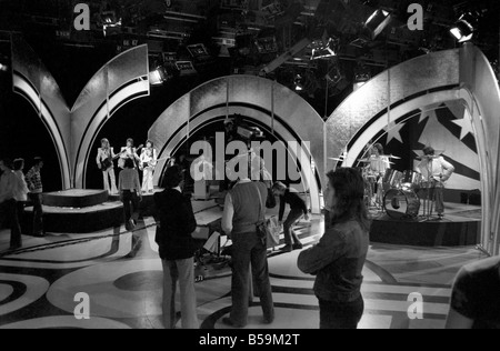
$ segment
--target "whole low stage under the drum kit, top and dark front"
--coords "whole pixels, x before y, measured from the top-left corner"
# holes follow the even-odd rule
[[[387,213],[373,218],[370,240],[414,247],[466,247],[480,242],[481,207],[446,203],[446,217],[393,219]],[[420,210],[422,214],[422,209]]]

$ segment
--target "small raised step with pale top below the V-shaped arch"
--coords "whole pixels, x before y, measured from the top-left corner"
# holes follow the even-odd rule
[[[54,208],[88,208],[108,201],[106,190],[71,189],[43,194],[43,204]]]

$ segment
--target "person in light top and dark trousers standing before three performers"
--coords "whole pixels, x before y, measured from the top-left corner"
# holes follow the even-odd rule
[[[142,194],[139,173],[134,169],[132,159],[126,160],[124,169],[120,172],[118,188],[120,190],[121,201],[123,202],[126,228],[127,230],[133,230],[139,217],[139,202],[142,201]]]

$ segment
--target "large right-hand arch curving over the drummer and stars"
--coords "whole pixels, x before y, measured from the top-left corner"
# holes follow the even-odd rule
[[[434,103],[460,100],[472,117],[482,174],[482,247],[499,253],[500,237],[500,90],[484,54],[474,46],[434,52],[403,62],[351,94],[326,124],[327,158],[348,151],[346,166],[388,126]],[[393,128],[393,127],[392,127]]]

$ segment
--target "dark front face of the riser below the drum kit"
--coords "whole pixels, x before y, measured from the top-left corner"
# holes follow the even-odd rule
[[[370,231],[372,242],[414,247],[467,247],[480,242],[480,221],[413,222],[374,220]]]

